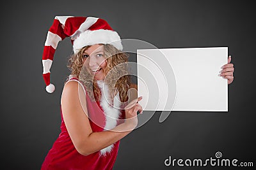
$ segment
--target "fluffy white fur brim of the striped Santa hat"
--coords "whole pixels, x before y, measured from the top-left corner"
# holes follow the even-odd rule
[[[98,29],[82,32],[73,42],[73,51],[77,53],[84,46],[95,44],[110,44],[115,46],[118,50],[123,50],[121,39],[117,32],[107,29]]]

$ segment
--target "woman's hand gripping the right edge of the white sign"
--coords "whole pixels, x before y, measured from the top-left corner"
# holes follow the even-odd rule
[[[231,62],[231,56],[228,56],[228,64],[225,64],[221,67],[221,71],[219,76],[222,76],[223,78],[227,78],[228,85],[233,82],[234,80],[234,64]]]

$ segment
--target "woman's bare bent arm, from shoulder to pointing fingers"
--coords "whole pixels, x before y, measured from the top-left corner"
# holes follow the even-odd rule
[[[142,111],[140,106],[134,106],[134,110],[132,110],[134,113],[129,113],[130,115],[126,113],[126,117],[133,117],[134,121],[131,121],[132,119],[125,120],[123,124],[116,126],[112,131],[92,132],[86,115],[88,113],[86,96],[83,87],[77,81],[69,81],[65,85],[61,96],[61,109],[68,134],[77,152],[82,155],[97,152],[124,138],[136,127],[137,111]]]

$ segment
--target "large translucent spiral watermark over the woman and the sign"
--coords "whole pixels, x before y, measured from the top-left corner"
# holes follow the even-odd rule
[[[116,42],[115,42],[116,43]],[[135,129],[141,127],[142,125],[146,124],[150,118],[153,117],[154,113],[158,111],[158,106],[161,104],[165,108],[165,106],[168,105],[168,108],[173,108],[173,105],[175,103],[176,98],[176,80],[175,80],[175,74],[173,72],[172,66],[167,59],[167,57],[164,55],[163,52],[158,50],[158,48],[146,41],[142,41],[139,39],[122,39],[122,45],[124,46],[124,49],[122,52],[109,49],[104,51],[104,57],[109,62],[107,66],[109,66],[109,70],[106,71],[106,74],[104,75],[104,80],[102,84],[102,92],[101,96],[102,98],[100,101],[106,101],[104,102],[103,108],[106,108],[106,110],[109,110],[109,114],[106,115],[106,120],[109,120],[109,122],[113,123],[113,126],[111,127],[105,127],[104,124],[101,124],[99,120],[97,120],[98,117],[90,117],[88,114],[88,117],[92,122],[97,124],[99,127],[104,128],[108,131],[115,131],[113,130],[113,127],[115,127],[116,122],[124,122],[126,119],[118,118],[115,114],[116,110],[125,110],[127,107],[123,106],[129,106],[131,108],[136,104],[136,102],[132,103],[132,99],[134,96],[134,99],[137,99],[137,95],[139,93],[136,89],[133,87],[129,87],[129,90],[127,90],[127,96],[129,98],[128,101],[122,102],[119,97],[111,96],[113,94],[116,95],[116,93],[109,94],[109,89],[111,89],[111,92],[113,92],[113,89],[117,90],[117,87],[119,85],[119,88],[121,87],[120,82],[118,80],[124,80],[125,76],[131,76],[135,79],[135,83],[140,86],[141,91],[143,90],[143,99],[140,101],[141,106],[143,107],[143,110],[146,106],[150,106],[150,109],[147,110],[147,114],[139,114],[137,116],[138,118],[138,125]],[[99,48],[95,49],[91,54],[90,57],[94,61],[97,57],[99,52],[101,51]],[[140,49],[154,49],[157,50],[156,59],[152,60],[150,57],[148,57],[147,53],[141,52]],[[140,62],[117,62],[115,59],[122,59],[121,53],[128,53],[129,56],[137,57]],[[134,56],[135,55],[135,56]],[[93,87],[95,87],[95,74],[97,73],[97,70],[100,70],[100,65],[96,68],[95,65],[93,67],[94,73],[91,74],[90,72],[90,60],[91,58],[88,55],[88,59],[84,60],[83,67],[81,67],[81,71],[79,74],[79,80],[83,82],[84,86],[86,87],[86,92],[89,96],[92,96],[92,101],[95,101],[94,98],[94,92]],[[92,64],[91,64],[92,65]],[[146,77],[141,77],[138,74],[138,71],[140,73],[143,73],[144,75],[147,75]],[[161,80],[161,81],[159,81]],[[124,81],[122,81],[124,82]],[[150,84],[150,86],[148,86]],[[169,88],[170,86],[172,88]],[[121,89],[121,88],[120,88]],[[123,88],[124,89],[124,88]],[[79,94],[79,97],[83,97],[83,90],[80,90],[82,94]],[[119,91],[118,91],[119,93]],[[129,94],[136,94],[136,95],[129,95]],[[93,94],[93,95],[90,95]],[[160,94],[163,94],[164,96],[160,96]],[[113,99],[114,98],[114,99]],[[83,103],[83,98],[80,99],[81,103]],[[115,102],[116,101],[116,102]],[[129,104],[128,102],[131,101],[132,104]],[[150,102],[149,102],[150,101]],[[148,104],[150,103],[150,104]],[[83,107],[83,106],[82,106]],[[87,114],[87,107],[83,107],[84,112]],[[105,109],[104,109],[105,110]],[[172,109],[170,111],[161,111],[161,115],[159,117],[159,122],[164,122],[166,118],[170,115]],[[133,128],[132,128],[133,129]],[[129,130],[132,130],[129,129]],[[118,129],[118,132],[122,130]],[[125,130],[126,131],[126,130]]]

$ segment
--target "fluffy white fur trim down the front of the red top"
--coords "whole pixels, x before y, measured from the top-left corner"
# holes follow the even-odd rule
[[[100,106],[104,110],[106,124],[104,127],[104,131],[113,129],[116,127],[117,119],[120,117],[120,97],[119,93],[116,94],[113,102],[113,106],[111,106],[111,99],[109,97],[109,89],[108,85],[106,85],[102,80],[97,81],[100,91],[101,91],[101,99],[100,99]],[[106,155],[106,153],[111,152],[113,149],[113,144],[109,145],[108,147],[100,150],[100,155]]]

